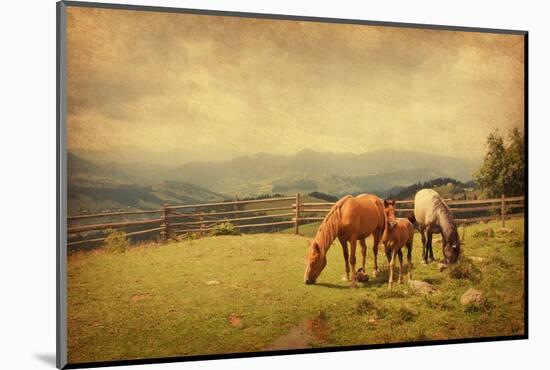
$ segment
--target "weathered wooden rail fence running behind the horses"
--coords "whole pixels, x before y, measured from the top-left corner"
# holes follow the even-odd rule
[[[505,220],[524,216],[524,197],[479,200],[447,200],[459,224]],[[397,201],[398,215],[413,211],[413,200]],[[239,230],[275,231],[323,220],[334,205],[331,202],[302,202],[300,194],[294,197],[276,197],[258,200],[235,200],[173,206],[165,204],[159,210],[96,213],[67,218],[68,247],[100,243],[108,229],[125,229],[129,237],[149,236],[161,243],[178,239],[190,233],[210,233],[221,223],[229,222]],[[485,213],[479,215],[479,213]],[[98,220],[103,220],[99,221]]]

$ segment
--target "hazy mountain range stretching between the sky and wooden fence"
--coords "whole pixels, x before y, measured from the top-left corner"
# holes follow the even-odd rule
[[[69,153],[69,211],[158,208],[162,203],[266,193],[380,194],[438,177],[468,181],[478,166],[470,159],[390,149],[361,154],[309,149],[290,156],[257,153],[165,168]]]

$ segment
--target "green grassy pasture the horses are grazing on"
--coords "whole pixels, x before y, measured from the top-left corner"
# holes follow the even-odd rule
[[[494,233],[480,233],[491,227]],[[350,289],[341,280],[335,243],[316,285],[305,285],[306,236],[209,237],[69,256],[69,362],[276,350],[298,347],[471,338],[524,333],[523,220],[466,228],[464,257],[439,272],[420,263],[415,236],[413,278],[424,294],[380,277]],[[462,228],[460,228],[462,236]],[[441,247],[434,244],[436,258]],[[367,271],[372,270],[372,241]],[[406,267],[405,267],[406,270]],[[470,287],[479,307],[463,306]]]

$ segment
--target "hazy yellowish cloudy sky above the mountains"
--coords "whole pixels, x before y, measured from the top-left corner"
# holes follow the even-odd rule
[[[523,68],[522,36],[69,7],[69,150],[477,157]]]

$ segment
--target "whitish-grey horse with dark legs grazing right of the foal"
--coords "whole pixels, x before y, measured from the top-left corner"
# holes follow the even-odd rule
[[[432,234],[441,234],[445,263],[455,263],[460,255],[458,230],[451,210],[432,189],[422,189],[414,197],[414,218],[422,236],[422,260],[433,261]],[[426,235],[428,240],[426,241]]]

